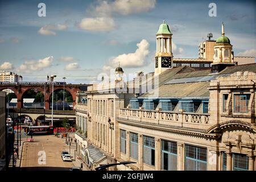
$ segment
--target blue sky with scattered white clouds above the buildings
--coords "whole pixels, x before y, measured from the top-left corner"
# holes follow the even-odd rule
[[[216,4],[216,16],[209,16]],[[39,3],[46,16],[39,16]],[[178,58],[198,57],[198,45],[221,36],[225,24],[235,56],[256,56],[254,1],[0,1],[0,70],[23,81],[90,84],[118,66],[154,72],[156,32],[165,20]],[[40,11],[42,12],[42,11]],[[113,73],[113,72],[112,72]]]

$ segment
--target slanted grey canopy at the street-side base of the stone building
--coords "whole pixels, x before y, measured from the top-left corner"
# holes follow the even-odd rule
[[[97,147],[90,145],[85,148],[85,152],[88,154],[88,158],[93,164],[106,164],[106,155],[101,152]]]

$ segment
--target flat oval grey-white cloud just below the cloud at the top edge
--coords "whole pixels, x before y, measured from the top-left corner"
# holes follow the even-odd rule
[[[110,17],[84,18],[78,26],[88,31],[110,31],[114,30],[115,22]]]

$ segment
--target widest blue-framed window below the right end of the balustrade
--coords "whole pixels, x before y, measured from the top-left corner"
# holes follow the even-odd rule
[[[207,171],[207,148],[185,145],[185,170]]]

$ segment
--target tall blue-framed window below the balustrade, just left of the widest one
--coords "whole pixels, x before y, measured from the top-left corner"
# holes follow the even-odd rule
[[[162,140],[162,169],[177,170],[177,143]]]

